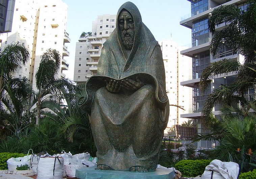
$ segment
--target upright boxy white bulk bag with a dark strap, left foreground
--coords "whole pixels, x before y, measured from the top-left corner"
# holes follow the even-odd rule
[[[39,157],[36,179],[62,179],[64,174],[63,157]]]

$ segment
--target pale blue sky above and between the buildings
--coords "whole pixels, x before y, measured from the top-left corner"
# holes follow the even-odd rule
[[[82,32],[91,32],[92,23],[98,15],[117,14],[127,0],[62,0],[68,5],[67,32],[71,39],[65,45],[70,52],[65,57],[69,70],[63,71],[66,78],[73,80],[76,42]],[[130,0],[139,9],[142,22],[149,28],[157,41],[172,39],[178,46],[191,43],[191,29],[180,25],[181,17],[191,11],[188,0]]]

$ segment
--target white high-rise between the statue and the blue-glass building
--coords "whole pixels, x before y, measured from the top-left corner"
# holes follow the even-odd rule
[[[181,118],[180,115],[192,106],[192,88],[180,85],[180,82],[189,79],[192,72],[192,60],[190,57],[180,54],[180,51],[186,47],[178,47],[177,43],[172,40],[164,40],[159,42],[161,46],[164,68],[166,91],[169,98],[170,114],[167,128],[164,133],[174,125],[181,125],[186,118]]]

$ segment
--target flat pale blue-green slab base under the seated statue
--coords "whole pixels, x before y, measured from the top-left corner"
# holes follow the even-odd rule
[[[76,170],[76,177],[79,179],[173,179],[175,176],[174,170],[165,168],[156,168],[154,172],[126,172],[113,170],[95,170],[94,167],[88,167]]]

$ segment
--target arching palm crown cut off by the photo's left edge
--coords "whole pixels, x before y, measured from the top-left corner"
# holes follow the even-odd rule
[[[0,113],[3,89],[11,74],[29,59],[28,50],[19,43],[9,44],[0,52]]]

